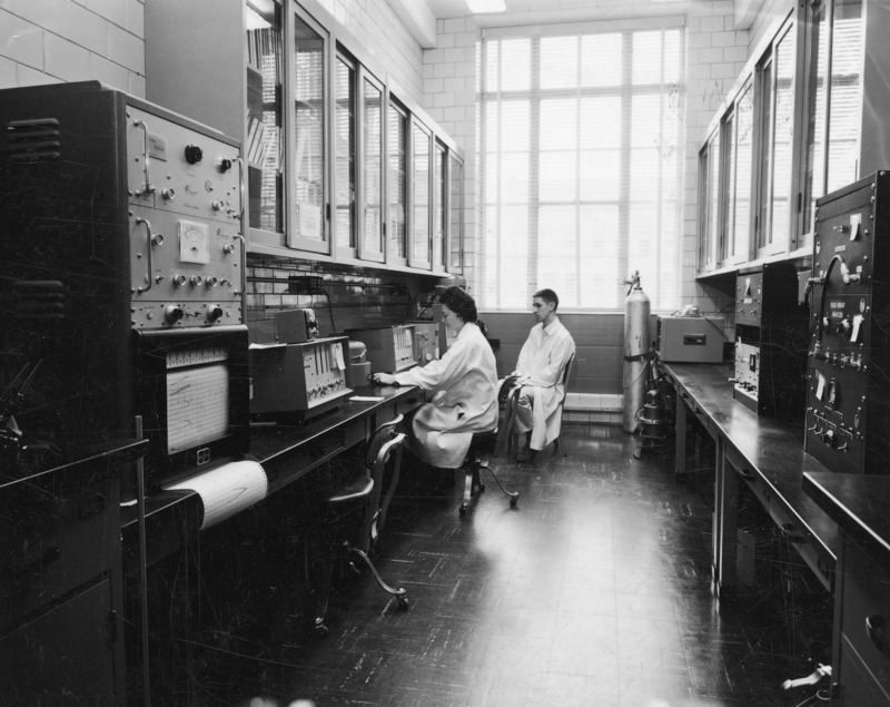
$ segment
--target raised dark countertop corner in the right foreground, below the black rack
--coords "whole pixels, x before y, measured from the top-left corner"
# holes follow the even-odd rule
[[[809,472],[803,490],[840,529],[890,572],[890,477]]]

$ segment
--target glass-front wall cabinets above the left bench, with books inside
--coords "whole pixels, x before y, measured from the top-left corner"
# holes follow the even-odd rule
[[[459,269],[463,156],[329,4],[145,3],[146,99],[240,139],[249,252]]]

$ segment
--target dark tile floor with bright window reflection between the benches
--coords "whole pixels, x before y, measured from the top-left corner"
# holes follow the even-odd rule
[[[266,581],[237,592],[255,610],[249,618],[236,611],[234,623],[225,601],[204,599],[212,611],[178,639],[190,680],[174,701],[817,704],[815,688],[783,691],[781,684],[830,662],[830,596],[756,501],[743,497],[740,515],[756,532],[756,580],[718,602],[708,464],[676,479],[670,450],[635,460],[637,440],[621,428],[566,425],[564,439],[566,460],[547,450],[533,465],[493,462],[521,492],[516,509],[490,482],[462,518],[459,488],[434,494],[405,483],[376,559],[384,577],[408,590],[409,608],[399,610],[368,575],[348,579],[326,639],[308,629],[312,598],[295,610],[299,601],[276,578],[285,556],[249,570],[258,553],[227,552],[226,571],[239,581],[251,573]],[[200,592],[211,597],[208,585],[224,582],[225,571],[212,579],[212,560],[205,564]]]

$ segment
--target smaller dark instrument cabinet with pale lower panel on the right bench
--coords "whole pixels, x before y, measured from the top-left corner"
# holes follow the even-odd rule
[[[789,262],[739,272],[732,379],[732,396],[743,405],[798,424],[805,401],[809,316],[799,297],[800,278]]]

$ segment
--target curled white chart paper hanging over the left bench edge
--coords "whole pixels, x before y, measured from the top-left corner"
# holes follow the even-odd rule
[[[204,503],[201,530],[235,515],[266,498],[269,482],[257,462],[222,464],[210,471],[164,487],[167,491],[190,489]]]

